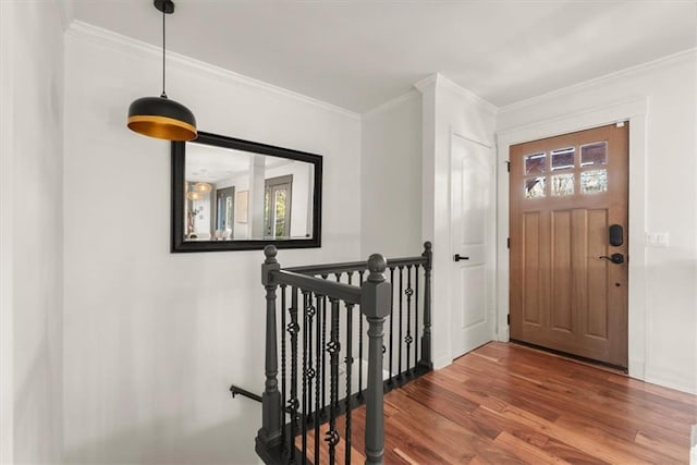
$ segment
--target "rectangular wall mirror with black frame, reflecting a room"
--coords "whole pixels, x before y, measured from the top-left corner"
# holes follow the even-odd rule
[[[321,245],[322,157],[198,132],[172,143],[172,252]]]

